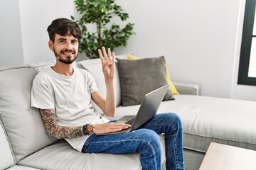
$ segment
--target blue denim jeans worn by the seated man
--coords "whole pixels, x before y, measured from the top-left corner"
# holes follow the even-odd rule
[[[82,148],[84,153],[124,154],[139,152],[143,169],[161,169],[161,142],[165,134],[166,169],[185,169],[181,119],[174,113],[155,115],[139,130],[117,135],[92,134]]]

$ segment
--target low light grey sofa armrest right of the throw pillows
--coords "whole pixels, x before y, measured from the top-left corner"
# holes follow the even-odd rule
[[[196,83],[173,81],[174,86],[180,94],[199,95],[200,85]]]

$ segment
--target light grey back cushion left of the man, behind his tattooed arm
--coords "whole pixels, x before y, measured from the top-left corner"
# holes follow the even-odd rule
[[[0,113],[16,161],[52,144],[38,109],[31,108],[36,71],[25,64],[0,68]]]

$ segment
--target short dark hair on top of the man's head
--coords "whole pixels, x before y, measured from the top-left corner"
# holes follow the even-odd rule
[[[67,18],[58,18],[53,20],[53,22],[47,28],[48,35],[50,40],[54,42],[55,34],[59,34],[61,36],[65,35],[73,35],[74,38],[82,38],[82,33],[78,23],[71,21]]]

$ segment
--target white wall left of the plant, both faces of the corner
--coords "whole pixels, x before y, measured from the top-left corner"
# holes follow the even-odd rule
[[[1,0],[0,65],[55,60],[48,48],[50,22],[74,15],[70,0]],[[4,38],[2,38],[4,36]]]

